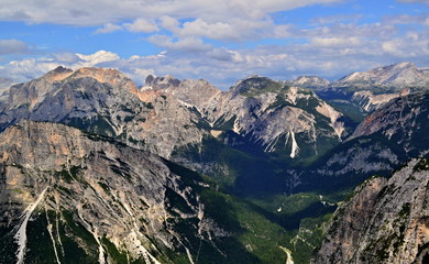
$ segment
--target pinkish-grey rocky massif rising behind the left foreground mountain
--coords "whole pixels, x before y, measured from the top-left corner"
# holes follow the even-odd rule
[[[156,95],[142,101],[134,82],[114,69],[57,68],[13,86],[0,110],[0,131],[21,119],[59,122],[164,157],[208,134],[195,125],[201,122],[200,117],[178,99]]]

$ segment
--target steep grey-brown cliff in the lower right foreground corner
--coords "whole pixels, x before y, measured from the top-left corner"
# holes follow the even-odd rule
[[[429,161],[366,180],[336,212],[314,263],[427,263]]]

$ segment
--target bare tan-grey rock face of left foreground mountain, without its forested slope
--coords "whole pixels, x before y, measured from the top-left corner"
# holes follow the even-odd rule
[[[63,124],[23,121],[1,133],[0,175],[2,263],[14,262],[15,252],[34,261],[32,252],[41,254],[34,246],[50,240],[56,251],[46,257],[70,257],[66,263],[74,253],[86,263],[117,263],[118,251],[160,263],[168,252],[186,256],[188,241],[199,235],[229,235],[205,218],[199,176],[178,175],[154,154]],[[187,233],[178,231],[185,223]]]

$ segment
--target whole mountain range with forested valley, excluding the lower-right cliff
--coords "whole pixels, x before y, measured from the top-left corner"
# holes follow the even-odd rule
[[[362,235],[336,227],[366,196],[354,191],[330,219],[365,179],[403,180],[414,170],[392,173],[428,156],[428,73],[398,63],[332,82],[254,75],[222,91],[58,67],[8,82],[1,262],[309,263],[319,246],[318,263],[359,261],[358,245],[328,240]],[[396,260],[386,252],[381,261]]]

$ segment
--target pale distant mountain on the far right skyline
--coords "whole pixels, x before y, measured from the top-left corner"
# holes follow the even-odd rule
[[[399,96],[429,89],[429,70],[411,63],[397,63],[369,72],[356,72],[317,94],[353,116],[371,112]]]

